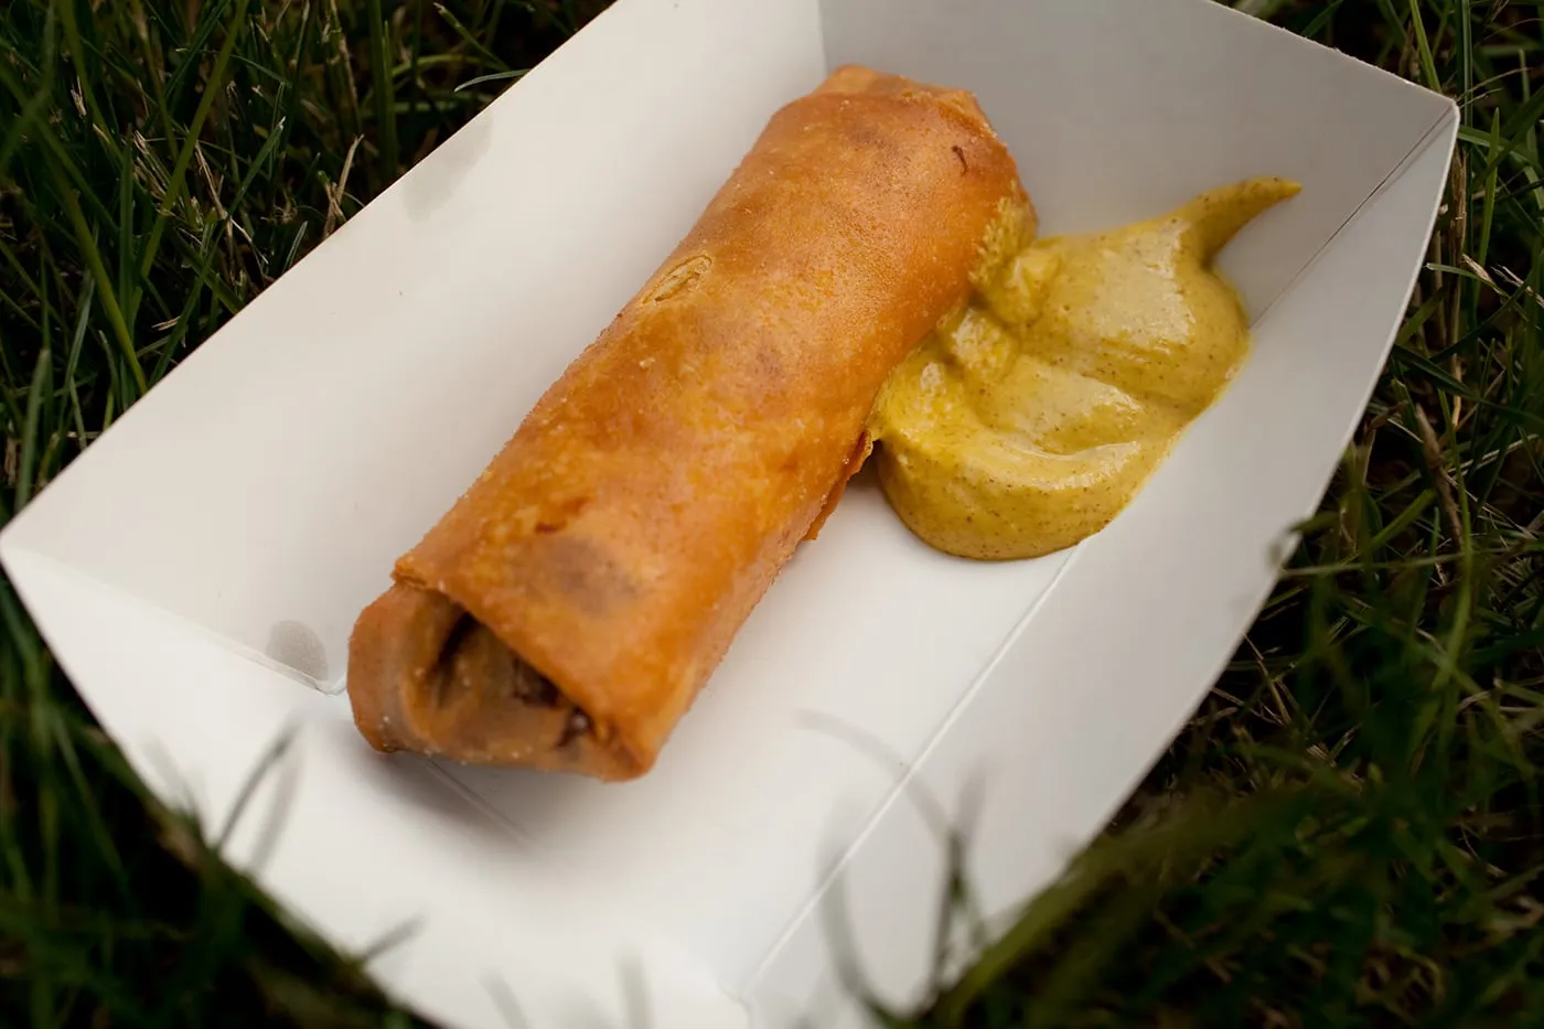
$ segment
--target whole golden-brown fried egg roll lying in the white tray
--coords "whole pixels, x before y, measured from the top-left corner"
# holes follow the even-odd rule
[[[780,110],[360,615],[360,732],[645,773],[863,464],[885,379],[965,301],[1010,216],[1033,230],[968,93],[849,66]]]

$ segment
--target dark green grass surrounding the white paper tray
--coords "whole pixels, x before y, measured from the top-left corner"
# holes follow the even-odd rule
[[[0,518],[599,6],[0,6]],[[1538,3],[1238,6],[1461,99],[1428,269],[1197,718],[891,1026],[1544,1024]],[[6,584],[0,616],[0,1024],[414,1024],[145,794]]]

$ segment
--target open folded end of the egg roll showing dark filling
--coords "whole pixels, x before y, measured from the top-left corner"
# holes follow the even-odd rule
[[[378,751],[635,779],[647,765],[443,593],[397,582],[354,629],[354,722]],[[610,735],[610,734],[604,734]]]

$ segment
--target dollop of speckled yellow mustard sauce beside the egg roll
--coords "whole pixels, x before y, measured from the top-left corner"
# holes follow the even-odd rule
[[[869,419],[906,525],[979,559],[1104,528],[1249,351],[1212,260],[1297,192],[1249,179],[1163,218],[1044,241],[1005,212],[970,304],[891,374]]]

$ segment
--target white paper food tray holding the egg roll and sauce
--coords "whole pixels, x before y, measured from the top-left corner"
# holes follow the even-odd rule
[[[641,782],[367,751],[337,691],[394,558],[843,62],[974,90],[1047,235],[1300,181],[1223,263],[1254,318],[1235,385],[1070,553],[942,556],[860,482]],[[1366,402],[1456,125],[1207,0],[622,0],[193,354],[0,555],[134,766],[205,824],[295,732],[229,856],[343,947],[412,924],[372,967],[426,1015],[502,1026],[508,993],[533,1026],[622,1026],[635,981],[670,1029],[846,1024],[834,868],[874,983],[909,997],[929,967],[919,790],[980,785],[970,871],[1010,912],[1206,694]]]

